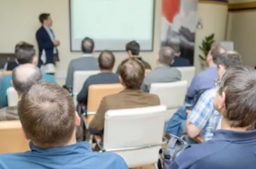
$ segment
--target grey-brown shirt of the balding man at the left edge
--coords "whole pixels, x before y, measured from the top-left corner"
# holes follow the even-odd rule
[[[15,121],[19,120],[17,106],[5,107],[0,110],[0,121]]]

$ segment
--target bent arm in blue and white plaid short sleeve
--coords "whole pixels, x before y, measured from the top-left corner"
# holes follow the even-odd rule
[[[195,104],[194,109],[189,114],[186,121],[186,129],[190,138],[198,136],[201,130],[206,126],[207,121],[212,115],[213,99],[211,95],[207,94],[207,92],[203,93]]]

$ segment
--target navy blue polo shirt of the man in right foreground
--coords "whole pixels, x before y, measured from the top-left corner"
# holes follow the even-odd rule
[[[217,130],[205,144],[193,144],[169,169],[255,169],[256,130]]]

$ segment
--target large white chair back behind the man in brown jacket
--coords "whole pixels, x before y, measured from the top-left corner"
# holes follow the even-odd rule
[[[134,148],[162,143],[166,106],[108,110],[105,115],[104,149]],[[113,151],[129,168],[154,164],[161,145],[145,149]]]

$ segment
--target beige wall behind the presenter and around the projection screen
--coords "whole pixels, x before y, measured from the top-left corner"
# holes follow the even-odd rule
[[[143,59],[147,60],[153,68],[156,66],[155,56],[160,49],[161,21],[161,1],[155,0],[155,2],[154,51],[142,54]],[[57,65],[56,76],[62,77],[58,79],[58,82],[63,84],[70,60],[80,56],[79,53],[70,52],[68,8],[68,0],[0,0],[0,53],[12,53],[15,43],[19,41],[32,42],[36,45],[35,32],[40,26],[38,14],[50,13],[54,20],[55,37],[61,41],[59,47],[61,62]],[[198,4],[198,15],[204,27],[196,32],[195,67],[197,72],[201,70],[198,46],[201,44],[202,38],[214,32],[217,42],[224,40],[226,10],[227,7],[224,5]],[[115,53],[115,56],[114,70],[121,60],[127,57],[127,54]]]

